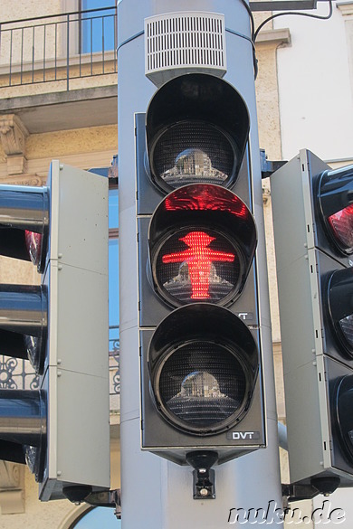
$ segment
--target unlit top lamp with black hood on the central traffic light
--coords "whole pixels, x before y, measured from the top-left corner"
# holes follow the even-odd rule
[[[230,84],[193,73],[157,90],[149,103],[146,128],[150,176],[168,193],[196,182],[234,184],[250,118],[243,98]]]

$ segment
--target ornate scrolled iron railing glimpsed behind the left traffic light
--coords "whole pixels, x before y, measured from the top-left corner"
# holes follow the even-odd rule
[[[1,345],[0,345],[1,346]],[[110,395],[120,393],[119,326],[110,326]],[[0,389],[34,390],[39,377],[28,361],[0,354]]]

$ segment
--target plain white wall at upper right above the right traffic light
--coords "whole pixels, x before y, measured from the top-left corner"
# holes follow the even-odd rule
[[[328,14],[329,4],[316,11]],[[284,159],[309,148],[324,160],[353,157],[353,87],[345,18],[333,3],[329,20],[281,16],[275,28],[289,27],[291,46],[278,49],[281,141]]]

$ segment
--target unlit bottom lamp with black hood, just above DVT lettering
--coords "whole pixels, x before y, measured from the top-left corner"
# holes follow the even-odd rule
[[[148,350],[157,411],[179,430],[213,435],[243,419],[259,370],[253,335],[223,307],[181,307],[157,327]]]

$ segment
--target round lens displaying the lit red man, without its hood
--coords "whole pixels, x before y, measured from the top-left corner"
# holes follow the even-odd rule
[[[161,294],[178,303],[223,301],[239,286],[239,251],[214,230],[174,233],[157,252],[154,269]]]

